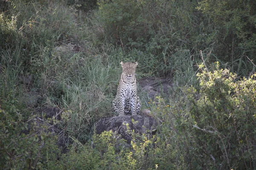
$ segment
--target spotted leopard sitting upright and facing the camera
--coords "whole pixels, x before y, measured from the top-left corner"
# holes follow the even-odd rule
[[[119,116],[135,116],[140,112],[140,98],[137,96],[137,82],[135,77],[138,62],[122,62],[122,74],[115,99],[113,99],[113,112]]]

